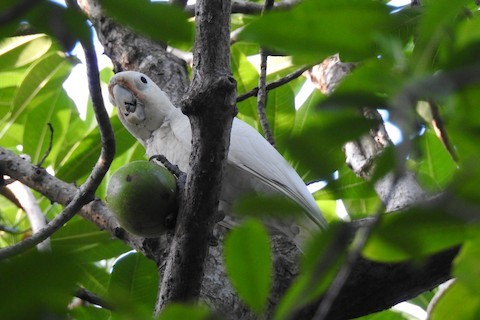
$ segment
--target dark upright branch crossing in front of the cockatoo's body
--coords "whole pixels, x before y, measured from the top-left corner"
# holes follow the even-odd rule
[[[197,300],[217,213],[235,81],[230,71],[230,1],[197,1],[193,78],[182,111],[192,127],[192,154],[156,312],[172,301]]]

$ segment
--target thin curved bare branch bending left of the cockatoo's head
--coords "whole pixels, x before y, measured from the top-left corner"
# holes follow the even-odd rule
[[[95,190],[102,182],[105,173],[108,171],[108,168],[113,161],[113,156],[115,155],[115,138],[108,113],[103,103],[97,55],[91,38],[87,37],[87,39],[88,40],[85,42],[82,42],[82,46],[85,52],[87,65],[88,88],[92,98],[93,110],[95,112],[95,117],[100,130],[100,138],[102,141],[102,151],[100,157],[86,182],[79,188],[72,201],[64,208],[64,210],[38,233],[33,234],[30,238],[18,242],[10,247],[1,249],[0,260],[14,256],[34,247],[50,237],[67,221],[73,218],[73,216],[75,216],[75,214],[86,203],[94,199]]]

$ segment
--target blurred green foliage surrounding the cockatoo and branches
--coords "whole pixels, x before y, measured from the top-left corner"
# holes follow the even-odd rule
[[[431,319],[479,317],[480,72],[474,71],[480,70],[480,13],[474,1],[466,0],[425,0],[422,7],[415,8],[392,8],[385,2],[304,0],[292,10],[232,17],[232,30],[241,30],[231,52],[239,95],[257,86],[260,46],[290,56],[269,60],[268,82],[335,53],[343,61],[358,62],[328,97],[315,91],[296,104],[306,83],[304,77],[269,92],[267,115],[279,151],[306,181],[325,183],[314,195],[332,222],[305,247],[302,273],[278,306],[277,319],[288,318],[320,296],[343,263],[348,245],[342,242],[345,224],[335,222],[340,220],[335,215],[340,207],[337,201],[342,201],[348,219],[382,210],[375,180],[356,177],[345,165],[342,152],[345,142],[376,125],[361,116],[359,107],[387,110],[389,120],[401,130],[401,142],[379,159],[377,176],[406,168],[416,173],[425,190],[445,196],[429,207],[382,216],[364,256],[421,263],[430,254],[460,246],[453,266],[457,280],[439,291],[436,303],[430,305]],[[149,1],[102,3],[118,22],[152,39],[183,50],[192,47],[192,23],[177,8]],[[0,9],[15,4],[17,1],[3,1]],[[51,1],[0,26],[0,145],[28,154],[32,163],[38,163],[50,143],[51,124],[52,150],[43,166],[69,183],[82,183],[100,152],[91,107],[80,117],[77,108],[85,106],[77,106],[62,87],[79,62],[71,54],[73,46],[90,36],[85,17]],[[102,71],[103,81],[110,76],[111,70]],[[458,161],[439,139],[428,101],[439,106]],[[261,130],[254,98],[240,102],[238,110],[239,118]],[[111,122],[117,139],[110,170],[114,172],[127,162],[144,158],[144,150],[123,128],[115,110]],[[105,182],[97,196],[103,198],[104,193]],[[59,205],[34,194],[47,218],[60,212]],[[241,204],[242,211],[250,216],[259,208],[281,207],[287,214],[295,211],[278,199],[269,201],[247,199]],[[0,225],[15,231],[0,231],[0,247],[21,241],[31,232],[23,211],[4,197],[0,197]],[[151,318],[158,289],[152,261],[138,253],[125,254],[130,248],[78,217],[51,241],[49,254],[31,252],[0,262],[2,315],[15,319]],[[267,234],[256,220],[247,220],[227,239],[227,272],[245,304],[258,314],[267,306],[270,254]],[[115,312],[92,305],[68,309],[76,287],[96,293],[115,306]],[[432,296],[427,292],[411,303],[426,310]],[[207,307],[187,305],[171,305],[160,316],[211,317]],[[412,317],[390,310],[363,319]]]

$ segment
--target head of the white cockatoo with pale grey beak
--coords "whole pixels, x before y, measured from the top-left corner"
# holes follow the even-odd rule
[[[110,102],[130,133],[145,142],[175,107],[167,95],[143,73],[123,71],[108,84]]]

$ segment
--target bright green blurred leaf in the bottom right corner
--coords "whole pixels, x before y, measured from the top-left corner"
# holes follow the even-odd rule
[[[430,320],[478,319],[480,296],[462,281],[455,281],[433,305]]]

